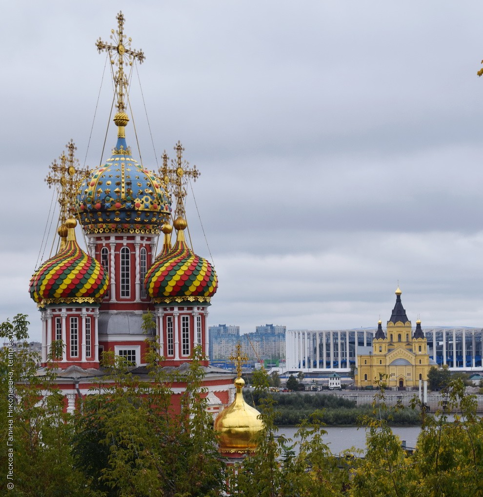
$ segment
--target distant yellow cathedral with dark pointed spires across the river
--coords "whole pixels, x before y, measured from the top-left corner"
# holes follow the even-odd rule
[[[429,362],[427,340],[416,321],[412,334],[411,322],[401,303],[401,290],[396,289],[396,304],[387,322],[386,335],[381,320],[369,354],[358,355],[355,381],[358,387],[374,386],[382,380],[387,387],[406,389],[417,387],[419,380],[428,379]]]

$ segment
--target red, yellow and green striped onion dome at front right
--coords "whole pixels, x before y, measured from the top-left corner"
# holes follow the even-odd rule
[[[182,222],[181,222],[182,221]],[[209,302],[218,288],[211,264],[193,253],[185,241],[186,221],[177,219],[178,237],[169,254],[155,260],[144,279],[148,296],[154,303]]]

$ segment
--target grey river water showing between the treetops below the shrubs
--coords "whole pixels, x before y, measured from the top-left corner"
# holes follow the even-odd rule
[[[294,439],[298,428],[291,426],[281,426],[278,435]],[[354,446],[356,449],[365,449],[366,430],[357,426],[324,426],[327,435],[323,437],[324,442],[329,446],[332,454],[338,454],[345,449]],[[405,440],[406,447],[415,447],[416,439],[421,431],[420,426],[394,426],[392,432],[398,435],[401,440]]]

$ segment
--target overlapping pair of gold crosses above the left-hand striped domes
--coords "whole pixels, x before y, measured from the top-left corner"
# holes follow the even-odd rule
[[[82,181],[90,175],[88,168],[82,169],[79,160],[74,157],[74,151],[77,150],[74,142],[71,140],[67,145],[67,157],[64,152],[59,157],[60,164],[54,161],[48,176],[45,178],[49,188],[55,184],[58,191],[58,201],[60,204],[60,223],[65,224],[67,217],[75,217],[76,198]]]

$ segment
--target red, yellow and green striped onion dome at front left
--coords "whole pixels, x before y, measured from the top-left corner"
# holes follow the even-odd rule
[[[30,297],[40,308],[49,304],[100,303],[107,291],[109,276],[96,259],[77,244],[75,219],[68,219],[67,241],[61,250],[44,262],[30,280]]]

